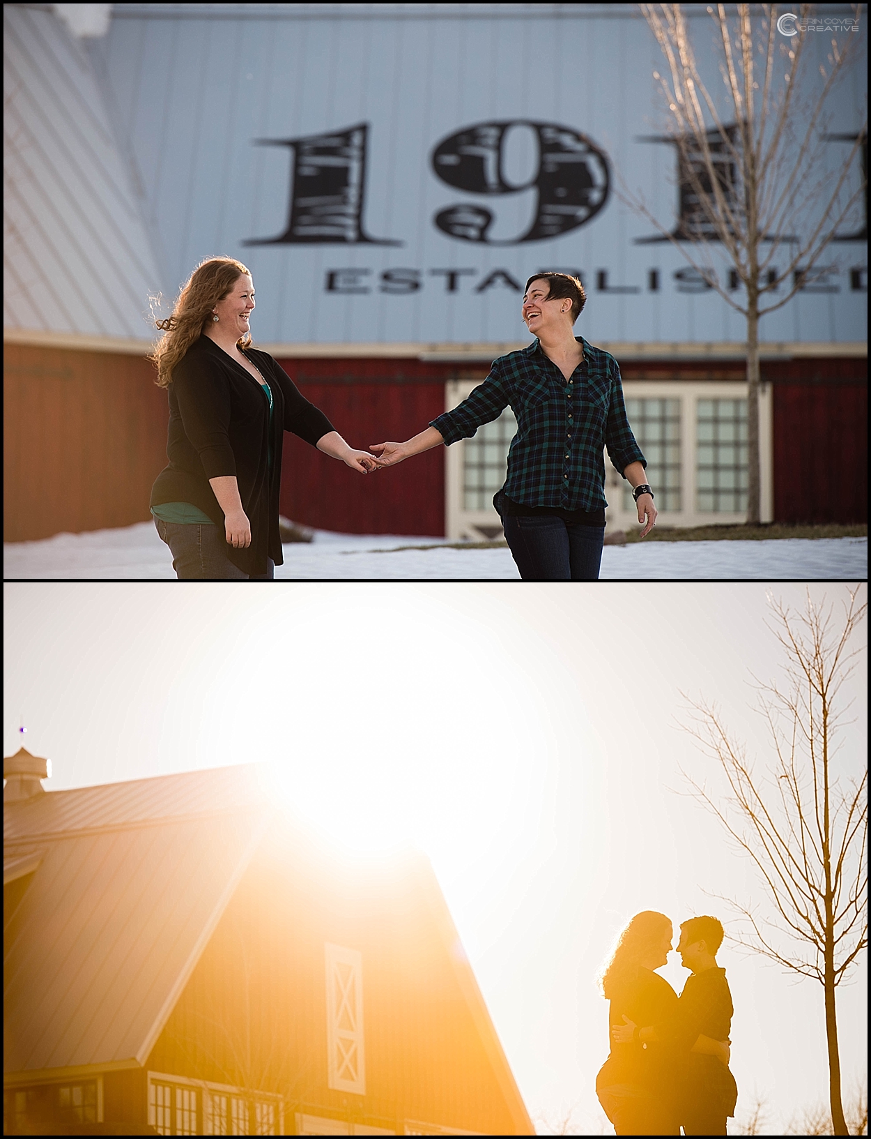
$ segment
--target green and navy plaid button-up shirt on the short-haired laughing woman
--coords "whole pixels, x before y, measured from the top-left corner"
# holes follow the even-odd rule
[[[582,337],[584,359],[566,379],[539,341],[493,361],[468,399],[430,421],[449,445],[470,439],[506,407],[517,417],[504,492],[524,506],[598,510],[605,500],[603,448],[623,474],[643,462],[626,418],[617,361]],[[625,477],[625,476],[624,476]]]

